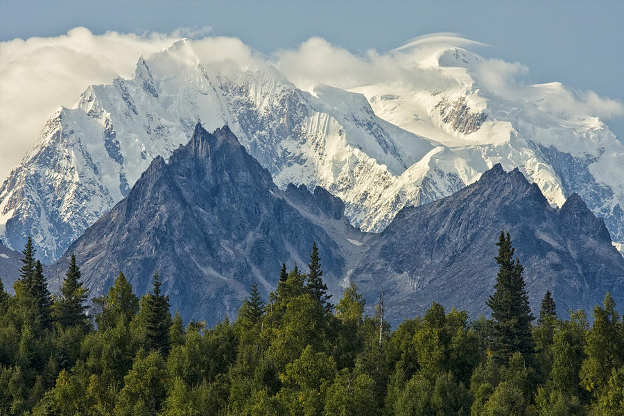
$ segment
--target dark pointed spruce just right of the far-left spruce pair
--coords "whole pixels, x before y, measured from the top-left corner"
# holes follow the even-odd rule
[[[88,291],[80,283],[80,268],[73,254],[65,276],[61,288],[62,297],[54,304],[56,319],[63,328],[84,327],[87,325],[87,306],[84,303]]]

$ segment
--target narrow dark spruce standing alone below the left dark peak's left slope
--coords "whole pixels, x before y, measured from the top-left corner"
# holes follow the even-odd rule
[[[169,297],[160,294],[160,285],[160,277],[155,273],[153,293],[149,293],[146,298],[146,346],[166,356],[171,345],[169,340],[171,313],[169,313]]]

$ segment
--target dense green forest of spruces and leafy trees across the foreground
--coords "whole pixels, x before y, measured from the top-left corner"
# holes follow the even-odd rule
[[[119,272],[87,307],[74,257],[51,295],[28,241],[15,295],[0,281],[0,415],[624,415],[612,297],[564,320],[548,292],[536,320],[497,245],[492,319],[434,303],[392,331],[383,291],[374,316],[353,284],[330,301],[316,245],[207,328],[171,315],[158,275],[139,299]]]

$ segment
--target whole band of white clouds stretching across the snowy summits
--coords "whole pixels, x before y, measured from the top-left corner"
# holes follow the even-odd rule
[[[94,35],[74,28],[58,37],[33,37],[0,42],[0,178],[19,164],[40,138],[49,116],[61,105],[71,107],[88,85],[128,78],[139,55],[148,56],[180,37],[193,38],[202,63],[227,60],[243,66],[270,64],[297,87],[311,90],[327,84],[352,89],[377,83],[443,89],[458,83],[439,69],[422,64],[441,45],[470,49],[483,46],[453,33],[417,37],[385,53],[374,49],[356,55],[311,37],[297,49],[261,55],[234,37],[211,36],[210,28],[182,28],[174,33],[144,35],[108,32]],[[470,70],[479,85],[503,98],[544,100],[548,111],[601,119],[621,117],[624,105],[594,92],[576,91],[558,83],[528,85],[528,68],[518,63],[486,59]]]

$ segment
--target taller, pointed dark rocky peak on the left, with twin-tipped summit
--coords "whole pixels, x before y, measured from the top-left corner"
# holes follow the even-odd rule
[[[198,125],[187,146],[168,162],[154,159],[128,197],[89,227],[49,273],[62,275],[76,253],[85,284],[98,295],[119,270],[137,293],[146,293],[157,271],[174,310],[214,323],[235,315],[254,281],[265,293],[274,288],[281,261],[305,270],[313,241],[327,279],[338,281],[348,252],[334,239],[358,233],[343,209],[327,191],[280,191],[228,128],[211,135]],[[332,223],[333,236],[316,223]]]

